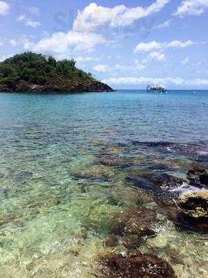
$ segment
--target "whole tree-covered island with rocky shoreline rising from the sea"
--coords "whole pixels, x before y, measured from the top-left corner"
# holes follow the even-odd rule
[[[0,63],[0,92],[113,92],[74,59],[56,60],[33,52],[17,54]]]

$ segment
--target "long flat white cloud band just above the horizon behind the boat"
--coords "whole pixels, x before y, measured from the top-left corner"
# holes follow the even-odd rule
[[[110,85],[146,85],[146,84],[172,84],[178,86],[202,86],[208,85],[208,79],[182,79],[182,78],[150,78],[150,77],[119,77],[103,79],[104,83]]]

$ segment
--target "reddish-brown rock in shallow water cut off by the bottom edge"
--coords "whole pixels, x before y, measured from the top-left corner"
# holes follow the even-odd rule
[[[176,278],[171,265],[151,254],[101,257],[100,273],[103,278]]]

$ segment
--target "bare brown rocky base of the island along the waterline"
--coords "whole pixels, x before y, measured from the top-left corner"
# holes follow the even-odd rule
[[[112,88],[99,81],[92,83],[74,83],[67,81],[60,85],[47,83],[45,85],[30,84],[26,81],[20,81],[15,88],[10,88],[8,85],[0,85],[0,92],[113,92]]]

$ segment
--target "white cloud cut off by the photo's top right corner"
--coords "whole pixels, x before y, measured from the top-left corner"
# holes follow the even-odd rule
[[[208,8],[207,0],[183,0],[174,15],[201,15]]]

